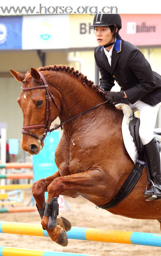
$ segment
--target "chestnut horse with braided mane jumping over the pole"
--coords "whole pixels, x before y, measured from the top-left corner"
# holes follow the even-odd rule
[[[74,68],[55,65],[38,70],[31,68],[26,74],[14,70],[11,73],[16,80],[23,82],[17,102],[24,115],[22,148],[30,154],[38,154],[44,145],[46,127],[50,124],[46,119],[50,118],[52,122],[59,116],[65,122],[105,101],[105,94],[98,86]],[[48,96],[42,75],[55,102],[46,100]],[[50,115],[46,114],[49,111]],[[50,238],[62,246],[68,243],[64,229],[71,228],[70,222],[60,217],[54,228],[49,227],[49,217],[43,216],[44,192],[48,191],[48,204],[60,194],[73,198],[81,195],[95,205],[110,202],[134,165],[123,144],[122,118],[122,112],[105,103],[65,123],[55,152],[58,171],[32,186],[36,205],[42,210],[41,224]],[[143,191],[146,184],[144,169],[130,194],[108,211],[129,218],[157,219],[161,223],[161,202],[145,201]]]

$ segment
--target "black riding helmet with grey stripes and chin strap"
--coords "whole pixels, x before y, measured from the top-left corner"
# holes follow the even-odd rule
[[[122,22],[121,17],[119,14],[96,14],[93,19],[93,25],[90,27],[105,27],[105,26],[114,26],[114,37],[116,35],[116,27],[118,27],[118,30],[122,28]],[[115,43],[115,40],[113,43],[109,43],[104,45],[103,47],[106,48],[108,46],[111,46]]]

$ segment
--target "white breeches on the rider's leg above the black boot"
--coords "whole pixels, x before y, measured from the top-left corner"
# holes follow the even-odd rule
[[[140,128],[139,136],[143,145],[148,144],[154,137],[153,131],[156,124],[157,113],[160,103],[155,106],[150,106],[140,100],[128,105],[132,108],[133,112],[139,111]]]

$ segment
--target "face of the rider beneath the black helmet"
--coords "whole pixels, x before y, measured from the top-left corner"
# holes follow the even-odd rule
[[[112,43],[114,41],[114,32],[111,32],[108,26],[95,27],[94,34],[100,46]]]

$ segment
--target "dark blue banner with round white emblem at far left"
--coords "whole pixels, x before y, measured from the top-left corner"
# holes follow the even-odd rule
[[[22,16],[0,17],[0,50],[22,49]]]

